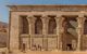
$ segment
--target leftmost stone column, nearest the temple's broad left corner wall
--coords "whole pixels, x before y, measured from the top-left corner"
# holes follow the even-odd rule
[[[33,46],[33,38],[32,36],[35,33],[35,17],[34,16],[29,16],[28,17],[28,22],[29,22],[29,41],[30,41],[30,45],[29,49],[32,50]]]

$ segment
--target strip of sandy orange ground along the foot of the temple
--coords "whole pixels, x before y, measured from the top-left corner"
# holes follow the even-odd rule
[[[29,51],[26,53],[22,53],[22,52],[15,52],[14,54],[87,54],[86,51],[59,51],[59,52],[53,52],[53,51]]]

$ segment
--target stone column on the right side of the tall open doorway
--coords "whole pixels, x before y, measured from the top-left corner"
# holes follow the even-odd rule
[[[77,51],[80,50],[80,43],[82,43],[82,36],[83,36],[83,32],[84,32],[84,22],[85,22],[85,17],[84,16],[78,16],[77,17],[77,23],[78,23],[78,26],[77,26],[77,35],[78,35],[78,39],[77,39]]]

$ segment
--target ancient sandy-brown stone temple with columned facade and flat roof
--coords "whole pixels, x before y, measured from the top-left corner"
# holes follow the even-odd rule
[[[87,51],[87,5],[9,8],[10,51]]]

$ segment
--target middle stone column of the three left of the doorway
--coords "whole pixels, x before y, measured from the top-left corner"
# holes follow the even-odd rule
[[[44,42],[42,42],[42,48],[44,50],[48,50],[48,21],[49,17],[48,16],[42,16],[42,35],[44,35]]]

